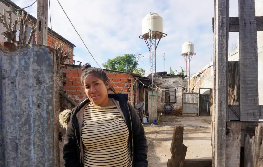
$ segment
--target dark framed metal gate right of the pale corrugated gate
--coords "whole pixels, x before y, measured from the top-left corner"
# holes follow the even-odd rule
[[[211,88],[199,88],[199,116],[210,115],[211,90]]]

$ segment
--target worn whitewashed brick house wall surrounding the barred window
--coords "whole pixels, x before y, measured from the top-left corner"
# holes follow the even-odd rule
[[[172,82],[174,80],[179,80],[179,82],[182,82],[182,77],[179,76],[156,76],[156,80],[158,79],[161,84],[158,85],[159,88],[173,88]],[[182,97],[183,97],[183,90],[181,88],[178,88],[176,90],[176,103],[172,104],[174,106],[173,115],[182,115]],[[164,113],[163,111],[163,105],[165,103],[162,102],[162,91],[157,90],[157,112],[158,113]]]

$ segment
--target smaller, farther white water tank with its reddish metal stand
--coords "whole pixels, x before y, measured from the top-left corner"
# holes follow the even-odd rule
[[[190,88],[190,61],[192,59],[192,56],[196,55],[194,44],[190,41],[183,43],[182,52],[180,55],[183,56],[185,60],[186,75],[187,75],[187,62],[188,62],[188,91],[190,92],[191,91],[191,88]]]

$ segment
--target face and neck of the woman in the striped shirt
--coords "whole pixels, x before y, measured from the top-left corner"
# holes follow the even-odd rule
[[[83,81],[85,93],[93,105],[103,106],[108,103],[109,82],[104,83],[95,75],[89,74]]]

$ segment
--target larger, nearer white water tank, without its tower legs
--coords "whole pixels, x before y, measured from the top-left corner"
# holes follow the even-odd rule
[[[163,21],[162,17],[157,13],[147,14],[142,19],[142,37],[149,39],[150,29],[153,32],[153,39],[158,39],[163,36]]]

